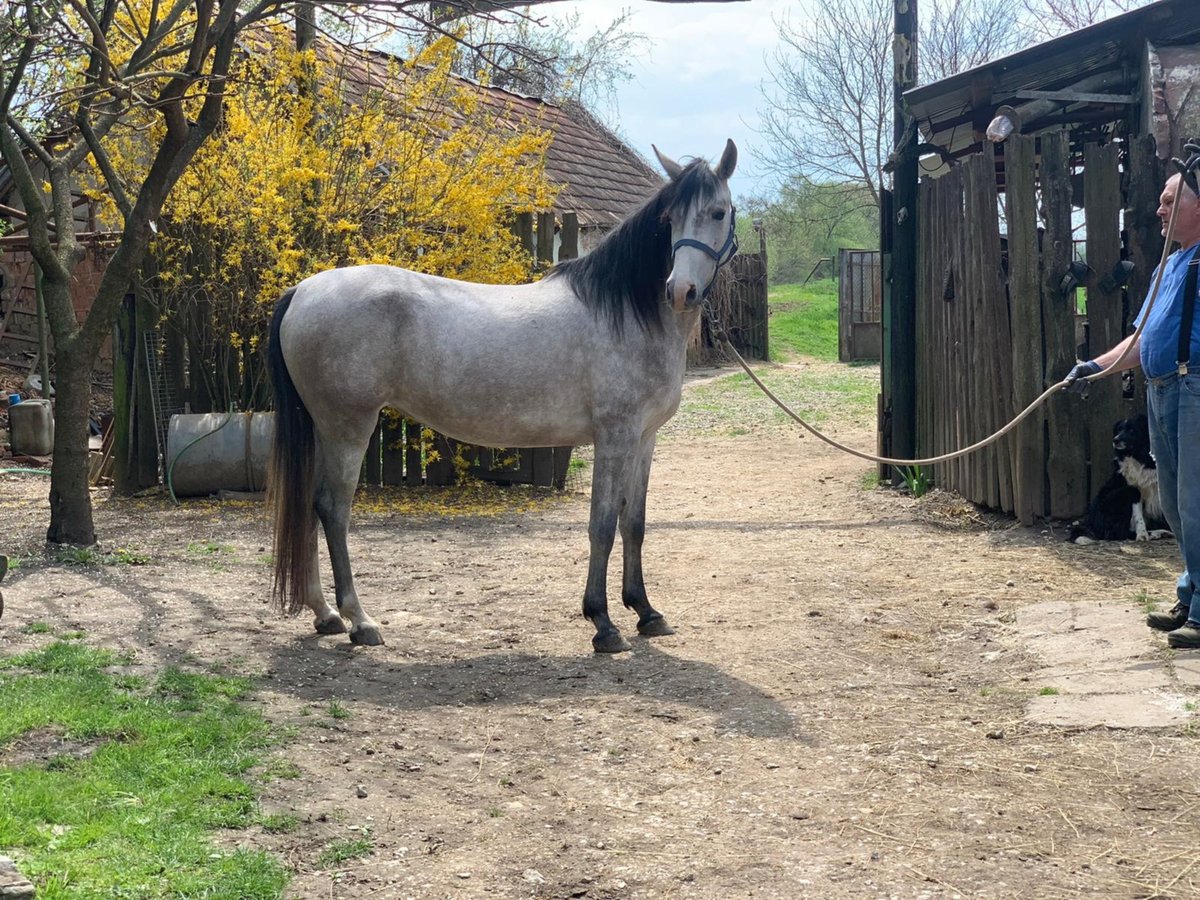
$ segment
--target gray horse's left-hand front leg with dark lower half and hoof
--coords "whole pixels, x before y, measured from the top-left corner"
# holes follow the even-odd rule
[[[608,557],[617,536],[623,493],[636,452],[636,439],[599,438],[592,469],[592,517],[588,522],[588,583],[583,589],[583,617],[595,625],[592,647],[596,653],[620,653],[629,641],[608,618]]]

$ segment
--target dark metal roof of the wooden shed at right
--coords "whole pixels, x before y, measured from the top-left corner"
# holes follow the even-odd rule
[[[1021,91],[1062,90],[1085,76],[1108,73],[1105,95],[1138,92],[1146,41],[1157,44],[1200,41],[1200,1],[1157,4],[1097,23],[1019,53],[992,60],[905,92],[925,140],[961,156],[979,146],[997,107],[1018,106]],[[1124,119],[1129,104],[1070,103],[1030,124],[1026,133],[1062,124],[1104,124]]]

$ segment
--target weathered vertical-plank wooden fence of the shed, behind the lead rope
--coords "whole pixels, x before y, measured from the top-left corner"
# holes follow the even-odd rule
[[[991,145],[922,181],[918,456],[986,437],[1061,380],[1076,354],[1088,359],[1132,330],[1162,248],[1154,217],[1162,164],[1151,138],[1079,150],[1063,133],[1009,138],[1003,203]],[[1090,266],[1079,284],[1087,292],[1082,347],[1076,290],[1063,283],[1079,168],[1082,194],[1074,200],[1082,205]],[[1106,278],[1122,256],[1135,264],[1124,288]],[[1121,378],[1093,383],[1087,400],[1061,392],[998,443],[935,467],[935,480],[1024,523],[1079,516],[1110,474],[1112,424],[1140,403],[1141,385],[1127,397]]]

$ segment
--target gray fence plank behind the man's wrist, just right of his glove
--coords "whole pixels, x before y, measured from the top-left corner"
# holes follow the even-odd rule
[[[1087,353],[1094,358],[1124,337],[1122,292],[1105,290],[1105,275],[1121,259],[1121,175],[1116,144],[1084,148],[1084,216],[1087,222]],[[1108,480],[1112,464],[1112,422],[1123,418],[1121,378],[1092,382],[1087,391],[1088,496]]]

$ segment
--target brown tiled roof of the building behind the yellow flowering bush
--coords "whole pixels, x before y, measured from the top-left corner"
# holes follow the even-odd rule
[[[395,88],[400,62],[396,56],[362,53],[325,40],[317,47],[329,62],[344,67],[352,94]],[[554,211],[575,212],[581,228],[608,229],[662,187],[662,175],[582,107],[457,80],[480,96],[500,127],[553,134],[546,152],[546,175],[562,187]]]

